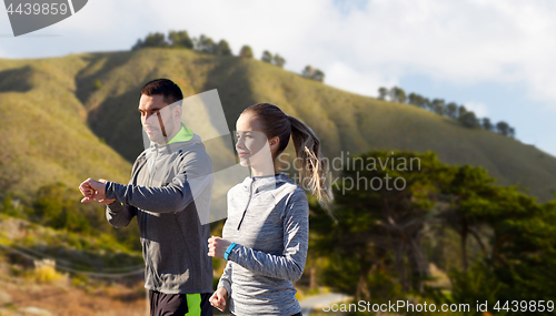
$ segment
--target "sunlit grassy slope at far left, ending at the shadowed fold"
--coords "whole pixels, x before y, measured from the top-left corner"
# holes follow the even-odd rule
[[[91,132],[76,96],[85,65],[79,57],[0,60],[0,192],[26,198],[56,182],[126,181],[129,162]]]

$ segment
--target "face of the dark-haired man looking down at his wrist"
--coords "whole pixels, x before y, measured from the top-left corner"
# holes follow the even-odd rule
[[[170,109],[172,108],[172,109]],[[157,144],[166,144],[175,135],[180,119],[179,106],[168,106],[163,95],[141,95],[139,112],[141,124],[149,140]]]

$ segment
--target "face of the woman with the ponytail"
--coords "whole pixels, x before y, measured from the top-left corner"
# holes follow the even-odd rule
[[[267,136],[251,113],[244,113],[236,122],[236,150],[239,163],[254,169],[274,167]]]

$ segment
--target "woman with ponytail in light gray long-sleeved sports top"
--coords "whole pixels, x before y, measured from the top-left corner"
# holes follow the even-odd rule
[[[301,315],[292,282],[305,268],[309,205],[301,186],[276,172],[276,159],[291,135],[299,183],[330,210],[320,142],[306,124],[269,103],[247,108],[236,128],[240,163],[252,176],[228,191],[224,238],[209,238],[208,255],[228,261],[210,302],[224,310],[231,295],[230,312],[238,316]]]

